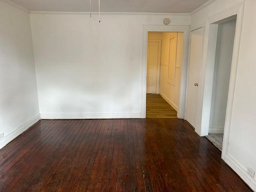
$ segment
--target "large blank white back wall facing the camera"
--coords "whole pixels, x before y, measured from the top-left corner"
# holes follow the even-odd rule
[[[42,118],[141,117],[142,25],[189,15],[31,14]]]

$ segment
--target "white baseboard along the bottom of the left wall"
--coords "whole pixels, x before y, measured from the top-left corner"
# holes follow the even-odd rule
[[[0,149],[6,146],[9,142],[14,140],[16,137],[18,137],[20,134],[22,134],[24,131],[26,131],[28,128],[30,128],[32,125],[34,125],[36,122],[40,120],[40,115],[31,118],[21,126],[19,126],[16,130],[11,132],[10,134],[6,135],[4,138],[0,140]]]

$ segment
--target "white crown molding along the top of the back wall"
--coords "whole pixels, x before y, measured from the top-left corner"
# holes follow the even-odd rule
[[[89,15],[90,12],[63,12],[63,11],[30,11],[30,14],[47,15]],[[98,12],[92,12],[98,14]],[[152,13],[152,12],[100,12],[102,15],[168,15],[168,16],[190,16],[189,13]]]

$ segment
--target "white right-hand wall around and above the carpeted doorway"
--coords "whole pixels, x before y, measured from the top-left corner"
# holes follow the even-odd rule
[[[216,0],[206,8],[191,16],[192,26],[206,21],[206,18],[216,14],[240,0]],[[232,122],[226,162],[254,189],[256,180],[250,179],[246,168],[256,170],[256,1],[245,0],[242,36],[238,55],[238,69],[232,110]]]

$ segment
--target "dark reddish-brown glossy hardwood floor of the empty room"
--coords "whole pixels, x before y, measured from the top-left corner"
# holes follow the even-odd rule
[[[1,192],[247,192],[184,121],[40,120],[0,150]]]

